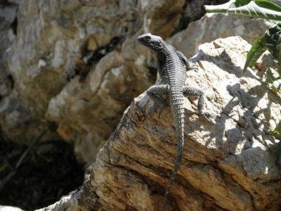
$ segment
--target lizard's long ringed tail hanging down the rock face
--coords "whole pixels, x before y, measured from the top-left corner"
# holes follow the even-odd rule
[[[183,110],[183,94],[181,92],[174,92],[171,93],[169,96],[171,102],[171,111],[174,117],[174,122],[176,124],[176,135],[178,137],[178,144],[177,144],[177,154],[176,160],[174,165],[174,172],[171,174],[169,184],[166,186],[166,192],[164,196],[163,202],[163,210],[166,209],[166,200],[169,195],[169,191],[173,184],[173,181],[178,173],[178,169],[181,165],[181,160],[183,158],[183,145],[184,145],[184,110]]]

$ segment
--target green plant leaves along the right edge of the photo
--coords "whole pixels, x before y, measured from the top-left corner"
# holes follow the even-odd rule
[[[230,0],[226,4],[216,6],[204,6],[207,13],[233,13],[254,18],[264,18],[270,20],[281,20],[281,7],[268,0]],[[271,68],[266,71],[267,82],[271,84],[272,91],[281,94],[281,23],[277,23],[261,37],[256,37],[247,54],[244,72],[247,68],[252,68],[256,60],[268,50],[277,60],[279,68],[278,75],[274,75]],[[281,121],[273,130],[273,136],[281,140]],[[277,165],[281,167],[281,141],[277,143]]]

